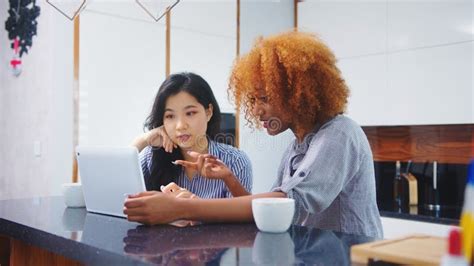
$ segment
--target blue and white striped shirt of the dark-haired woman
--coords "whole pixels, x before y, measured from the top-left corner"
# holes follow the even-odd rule
[[[209,154],[223,161],[239,179],[242,186],[248,192],[252,191],[252,165],[243,151],[230,145],[209,141]],[[140,152],[140,162],[145,180],[150,178],[151,175],[152,155],[151,146],[144,148]],[[181,173],[174,182],[200,198],[232,197],[232,193],[230,193],[224,181],[221,179],[207,179],[201,175],[196,175],[192,179],[189,179],[184,169],[181,170]]]

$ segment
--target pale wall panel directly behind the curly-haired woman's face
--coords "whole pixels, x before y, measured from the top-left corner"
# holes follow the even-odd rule
[[[268,36],[293,28],[293,1],[241,1],[241,55],[252,47],[258,36]],[[240,148],[253,166],[253,193],[267,192],[276,179],[277,167],[290,141],[290,131],[270,137],[264,131],[249,129],[241,114]]]

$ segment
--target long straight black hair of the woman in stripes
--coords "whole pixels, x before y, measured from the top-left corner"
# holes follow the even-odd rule
[[[166,100],[180,92],[187,92],[204,106],[209,108],[212,104],[212,117],[207,123],[206,135],[208,139],[214,139],[220,130],[221,111],[209,84],[199,75],[189,72],[170,75],[160,86],[153,103],[150,115],[147,117],[144,127],[148,130],[163,125]],[[160,186],[166,186],[178,177],[181,166],[171,162],[182,160],[183,156],[178,147],[172,153],[167,153],[163,148],[153,148],[150,178],[145,180],[147,190],[160,190]]]

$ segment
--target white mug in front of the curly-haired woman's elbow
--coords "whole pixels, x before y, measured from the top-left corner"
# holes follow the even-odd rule
[[[252,213],[262,232],[283,233],[291,225],[295,200],[288,198],[259,198],[252,200]]]

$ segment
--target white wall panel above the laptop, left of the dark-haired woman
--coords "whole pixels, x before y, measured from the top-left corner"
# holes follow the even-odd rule
[[[128,145],[165,78],[163,21],[133,1],[94,1],[80,33],[79,144]]]

